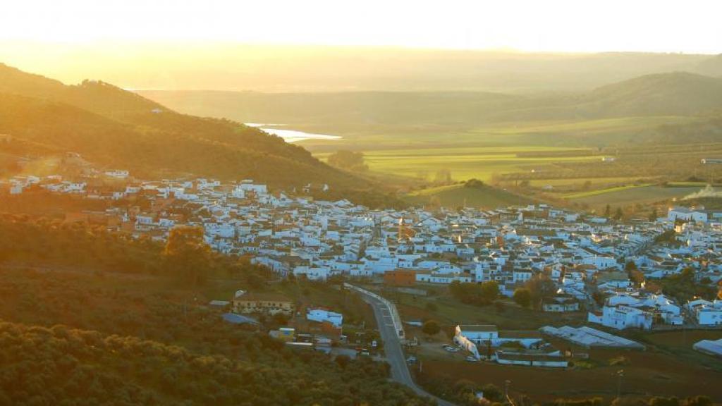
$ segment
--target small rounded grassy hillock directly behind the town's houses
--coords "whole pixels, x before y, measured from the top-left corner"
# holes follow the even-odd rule
[[[461,184],[415,191],[406,194],[404,199],[412,204],[419,205],[429,204],[432,199],[438,199],[438,203],[444,207],[464,206],[482,207],[484,209],[531,203],[531,199],[510,193],[505,189],[492,187],[467,188]]]

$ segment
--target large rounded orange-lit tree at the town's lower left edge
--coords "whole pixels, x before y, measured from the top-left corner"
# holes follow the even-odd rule
[[[163,255],[169,272],[183,282],[199,285],[204,282],[212,251],[203,239],[203,228],[181,226],[170,230]]]

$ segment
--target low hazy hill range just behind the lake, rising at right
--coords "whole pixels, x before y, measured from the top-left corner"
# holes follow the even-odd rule
[[[375,124],[474,126],[627,116],[691,116],[722,111],[722,78],[689,72],[649,74],[590,92],[257,93],[144,91],[178,111],[239,121],[349,127]]]

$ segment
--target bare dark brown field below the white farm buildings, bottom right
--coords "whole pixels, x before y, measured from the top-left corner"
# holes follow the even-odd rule
[[[722,399],[722,372],[673,354],[656,350],[589,350],[584,368],[531,368],[495,363],[466,363],[463,358],[424,358],[424,371],[432,378],[451,376],[499,387],[509,380],[510,392],[521,392],[536,401],[557,398],[617,394],[617,371],[624,370],[622,394],[639,396],[690,397],[705,394]],[[623,358],[622,358],[623,357]],[[617,365],[612,365],[617,364]]]

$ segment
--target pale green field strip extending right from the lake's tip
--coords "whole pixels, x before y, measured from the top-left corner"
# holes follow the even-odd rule
[[[375,150],[500,147],[514,151],[608,146],[635,141],[642,131],[665,124],[688,124],[699,118],[684,116],[648,116],[604,118],[580,121],[521,121],[469,124],[419,124],[393,126],[383,124],[341,124],[294,126],[294,129],[342,136],[338,140],[310,139],[299,144],[314,152],[353,149]]]

